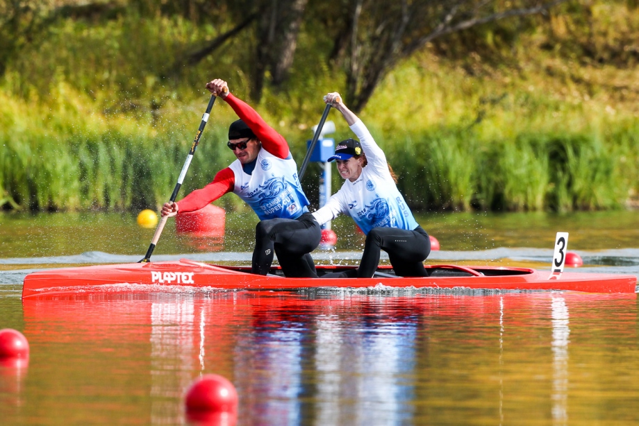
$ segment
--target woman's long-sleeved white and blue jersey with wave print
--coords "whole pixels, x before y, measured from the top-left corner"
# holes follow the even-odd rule
[[[384,152],[361,120],[351,130],[362,144],[368,164],[355,182],[345,180],[326,205],[313,213],[315,220],[322,225],[340,213],[348,214],[366,235],[379,227],[414,230],[419,224],[390,176]]]

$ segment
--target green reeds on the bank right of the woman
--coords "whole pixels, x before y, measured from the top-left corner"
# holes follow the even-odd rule
[[[454,130],[448,134],[441,139],[423,135],[421,140],[406,136],[405,144],[390,150],[401,192],[413,207],[604,210],[623,207],[636,188],[634,172],[626,167],[639,153],[614,141],[604,144],[595,137],[567,134],[481,142],[460,133],[451,136]]]

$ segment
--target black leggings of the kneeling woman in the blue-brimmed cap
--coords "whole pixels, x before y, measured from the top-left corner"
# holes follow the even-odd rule
[[[431,253],[431,240],[421,226],[412,231],[373,228],[366,236],[358,278],[371,278],[379,264],[380,250],[388,253],[390,264],[401,277],[426,277],[424,259]]]

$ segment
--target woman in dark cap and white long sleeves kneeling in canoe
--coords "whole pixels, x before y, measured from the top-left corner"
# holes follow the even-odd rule
[[[340,94],[329,93],[324,102],[342,113],[359,141],[346,139],[335,148],[329,161],[336,160],[344,185],[313,216],[321,225],[340,213],[348,214],[366,235],[359,268],[324,278],[371,278],[379,264],[380,250],[388,253],[396,275],[427,276],[423,262],[431,253],[431,241],[399,193],[384,152]]]

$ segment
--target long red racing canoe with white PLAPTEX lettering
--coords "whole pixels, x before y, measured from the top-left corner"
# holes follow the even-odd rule
[[[318,266],[317,273],[354,266]],[[527,268],[493,266],[426,266],[426,278],[392,275],[381,266],[373,278],[285,278],[279,269],[261,276],[248,267],[217,266],[188,259],[38,271],[24,278],[22,298],[86,292],[174,291],[175,289],[279,290],[313,287],[415,287],[500,290],[567,290],[589,293],[634,293],[634,275],[551,273]],[[279,275],[278,275],[279,274]]]

